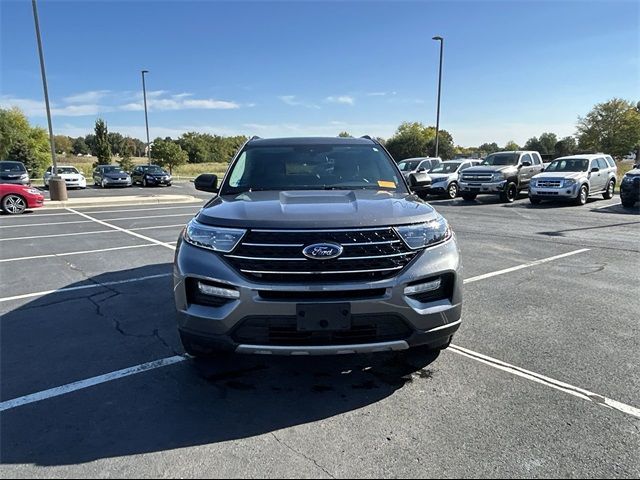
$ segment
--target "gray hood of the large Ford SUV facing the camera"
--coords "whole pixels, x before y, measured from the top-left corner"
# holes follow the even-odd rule
[[[241,228],[351,228],[420,223],[438,217],[417,196],[375,190],[247,192],[216,197],[196,219]]]

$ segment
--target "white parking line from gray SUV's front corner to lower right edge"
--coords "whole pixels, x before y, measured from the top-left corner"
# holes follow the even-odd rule
[[[451,351],[451,352],[457,353],[458,355],[462,355],[472,360],[476,360],[477,362],[483,363],[485,365],[489,365],[490,367],[493,367],[493,368],[497,368],[498,370],[511,373],[512,375],[526,378],[527,380],[531,380],[532,382],[536,382],[541,385],[546,385],[547,387],[551,387],[561,392],[568,393],[569,395],[573,395],[574,397],[578,397],[583,400],[594,402],[594,403],[597,403],[598,405],[602,405],[604,407],[611,408],[613,410],[618,410],[619,412],[622,412],[622,413],[626,413],[627,415],[640,418],[640,409],[636,407],[632,407],[631,405],[627,405],[625,403],[612,400],[602,395],[598,395],[597,393],[590,392],[589,390],[584,390],[583,388],[574,387],[573,385],[561,382],[559,380],[555,380],[550,377],[546,377],[544,375],[540,375],[539,373],[535,373],[530,370],[525,370],[524,368],[520,368],[515,365],[511,365],[509,363],[503,362],[502,360],[498,360],[496,358],[492,358],[487,355],[474,352],[473,350],[469,350],[467,348],[463,348],[458,345],[451,345],[445,351]]]

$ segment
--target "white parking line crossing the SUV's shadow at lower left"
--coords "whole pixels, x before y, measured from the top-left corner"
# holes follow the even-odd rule
[[[80,380],[79,382],[69,383],[61,387],[51,388],[42,392],[34,393],[31,395],[25,395],[24,397],[14,398],[13,400],[7,400],[0,403],[0,412],[10,410],[12,408],[21,407],[22,405],[28,405],[30,403],[39,402],[48,398],[59,397],[67,393],[82,390],[84,388],[93,387],[105,382],[111,382],[120,378],[129,377],[131,375],[137,375],[139,373],[148,372],[149,370],[155,370],[156,368],[166,367],[168,365],[174,365],[176,363],[184,362],[186,357],[176,355],[173,357],[162,358],[154,362],[143,363],[142,365],[136,365],[135,367],[125,368],[118,370],[117,372],[107,373],[105,375],[99,375],[93,378],[87,378],[86,380]]]

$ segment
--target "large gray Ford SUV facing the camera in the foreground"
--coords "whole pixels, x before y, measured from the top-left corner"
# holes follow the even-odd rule
[[[410,177],[413,189],[420,175]],[[182,232],[174,262],[187,353],[443,349],[460,326],[447,221],[376,140],[249,140]]]

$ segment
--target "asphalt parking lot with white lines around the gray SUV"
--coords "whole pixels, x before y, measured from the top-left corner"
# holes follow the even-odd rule
[[[640,212],[433,205],[463,324],[406,357],[182,356],[198,203],[0,217],[1,476],[640,476]]]

